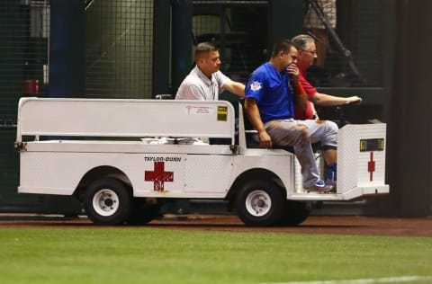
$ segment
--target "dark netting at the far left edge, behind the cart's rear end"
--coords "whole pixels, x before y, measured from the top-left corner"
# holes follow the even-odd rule
[[[17,102],[46,96],[49,1],[0,1],[0,204],[17,199],[18,154],[14,150]],[[25,200],[25,197],[21,197]]]

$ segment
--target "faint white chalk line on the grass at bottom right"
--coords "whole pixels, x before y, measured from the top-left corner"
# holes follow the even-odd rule
[[[387,278],[371,278],[359,280],[326,280],[326,281],[294,281],[294,282],[263,282],[261,284],[374,284],[396,282],[418,282],[432,280],[432,276],[401,276]]]

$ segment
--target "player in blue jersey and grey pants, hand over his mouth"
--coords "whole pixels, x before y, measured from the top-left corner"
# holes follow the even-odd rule
[[[294,104],[305,110],[308,103],[299,82],[296,60],[297,49],[291,40],[275,43],[272,58],[258,67],[247,81],[245,110],[258,131],[260,146],[293,146],[302,165],[305,189],[332,191],[333,185],[320,179],[311,143],[320,142],[326,163],[336,169],[338,126],[329,120],[293,119]]]

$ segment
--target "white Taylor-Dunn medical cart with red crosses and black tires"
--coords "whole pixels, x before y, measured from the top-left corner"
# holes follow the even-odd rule
[[[236,129],[225,101],[22,98],[18,191],[76,196],[105,225],[145,224],[164,199],[229,200],[248,226],[295,226],[317,201],[389,192],[385,124],[339,129],[337,191],[323,194],[302,188],[292,153],[248,147],[243,119],[240,106]]]

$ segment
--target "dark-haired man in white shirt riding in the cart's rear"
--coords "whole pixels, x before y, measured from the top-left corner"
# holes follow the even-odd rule
[[[177,93],[175,100],[213,100],[219,99],[224,90],[245,96],[245,85],[232,81],[220,72],[219,49],[209,42],[202,42],[195,49],[195,63]]]

